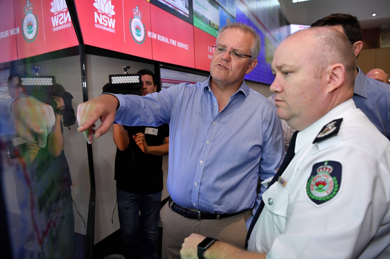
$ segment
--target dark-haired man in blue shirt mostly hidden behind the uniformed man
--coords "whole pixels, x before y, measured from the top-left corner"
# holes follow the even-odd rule
[[[356,58],[363,47],[362,29],[356,16],[351,14],[331,14],[311,25],[331,26],[344,33],[353,46]],[[357,108],[390,140],[390,86],[364,75],[356,67],[354,94],[352,97]]]

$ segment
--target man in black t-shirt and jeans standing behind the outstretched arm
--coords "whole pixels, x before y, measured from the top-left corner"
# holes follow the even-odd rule
[[[156,92],[154,74],[146,69],[138,73],[141,74],[142,96]],[[162,156],[168,154],[168,136],[168,124],[158,127],[113,125],[113,140],[117,145],[115,180],[119,224],[131,258],[157,258],[163,189],[161,166]]]

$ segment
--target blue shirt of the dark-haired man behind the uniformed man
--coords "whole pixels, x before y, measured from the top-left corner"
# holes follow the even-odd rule
[[[364,75],[355,79],[353,101],[367,118],[390,140],[390,85]]]

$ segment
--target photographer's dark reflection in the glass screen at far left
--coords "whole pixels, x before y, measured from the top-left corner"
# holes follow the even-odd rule
[[[54,80],[52,86],[36,87],[26,87],[21,81],[26,77],[37,79],[37,76],[11,73],[7,81],[11,99],[0,103],[4,111],[0,135],[6,143],[2,152],[8,153],[23,222],[16,228],[21,232],[15,233],[14,240],[17,246],[26,249],[29,258],[42,253],[50,258],[74,258],[72,182],[63,152],[61,121],[64,115],[64,126],[71,125],[71,107],[65,103],[71,103],[69,98],[73,97]],[[26,190],[30,190],[29,195]],[[42,240],[28,235],[45,229],[48,229],[47,238]]]

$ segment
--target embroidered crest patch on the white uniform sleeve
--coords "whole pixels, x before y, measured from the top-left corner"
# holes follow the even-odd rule
[[[342,168],[336,161],[324,161],[313,166],[307,180],[306,193],[316,205],[332,199],[340,189]]]

